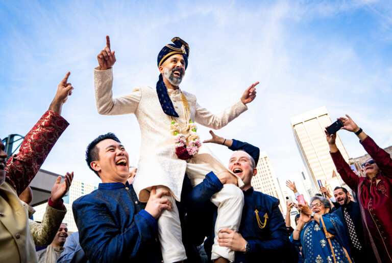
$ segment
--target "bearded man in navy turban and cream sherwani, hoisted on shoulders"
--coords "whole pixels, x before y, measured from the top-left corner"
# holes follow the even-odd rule
[[[136,87],[132,93],[113,98],[113,65],[115,53],[111,50],[109,36],[106,47],[97,55],[99,67],[94,69],[95,103],[100,114],[118,115],[134,113],[141,131],[140,159],[133,181],[140,201],[146,201],[152,187],[169,191],[173,203],[181,201],[185,172],[192,186],[200,184],[210,171],[218,174],[230,172],[207,147],[201,144],[197,127],[199,123],[220,129],[248,109],[256,98],[253,83],[241,98],[220,114],[213,114],[199,105],[194,95],[180,89],[188,67],[189,46],[180,38],[173,38],[162,47],[157,57],[159,78],[155,87]],[[242,90],[242,89],[241,89]],[[211,201],[218,207],[217,229],[229,227],[238,230],[243,196],[243,186],[227,184]],[[176,206],[164,211],[158,220],[159,239],[164,262],[186,259],[182,242],[179,212]],[[217,232],[216,232],[217,235]],[[234,251],[214,244],[213,258],[234,260]]]

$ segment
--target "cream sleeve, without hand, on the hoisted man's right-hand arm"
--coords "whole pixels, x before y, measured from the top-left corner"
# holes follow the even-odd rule
[[[196,102],[196,112],[194,121],[203,126],[218,130],[225,127],[229,122],[233,121],[242,112],[246,111],[248,107],[242,103],[241,100],[234,103],[232,106],[226,108],[219,114],[212,114],[209,110],[199,105]]]

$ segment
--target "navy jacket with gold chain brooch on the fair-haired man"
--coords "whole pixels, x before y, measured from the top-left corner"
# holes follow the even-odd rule
[[[259,148],[254,145],[233,140],[230,150],[244,150],[257,162],[259,159]],[[212,172],[208,174],[211,180],[205,180],[197,187],[203,189],[208,197],[222,188],[219,180]],[[217,179],[217,178],[216,178]],[[213,190],[212,193],[209,190]],[[199,195],[203,199],[203,193]],[[207,194],[208,193],[208,194]],[[253,188],[243,192],[244,207],[242,209],[241,224],[238,232],[250,244],[251,251],[247,254],[235,253],[235,262],[287,262],[292,257],[288,232],[284,223],[283,215],[279,209],[279,199],[267,194],[254,191]],[[209,199],[207,199],[209,201]],[[203,213],[206,217],[208,213]],[[193,217],[195,215],[193,214]],[[216,220],[216,210],[214,222]],[[203,222],[201,220],[201,222]],[[192,224],[194,225],[194,224]],[[214,227],[211,227],[211,236],[204,243],[205,250],[211,256],[211,247],[214,239]]]

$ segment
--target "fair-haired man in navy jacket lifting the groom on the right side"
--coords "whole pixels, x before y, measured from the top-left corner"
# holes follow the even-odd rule
[[[244,206],[239,230],[220,229],[217,237],[219,246],[235,251],[234,262],[289,262],[293,254],[279,209],[279,199],[254,191],[252,187],[252,178],[257,174],[259,148],[247,142],[219,137],[212,131],[210,134],[212,138],[204,142],[223,144],[235,151],[230,157],[229,169],[244,183]],[[217,182],[215,187],[218,186]],[[212,237],[205,243],[207,255],[211,250]],[[218,261],[227,262],[223,258]]]

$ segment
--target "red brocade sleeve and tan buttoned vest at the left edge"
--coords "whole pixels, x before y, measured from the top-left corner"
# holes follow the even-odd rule
[[[46,111],[24,137],[19,153],[7,161],[6,182],[0,186],[0,262],[37,262],[27,207],[18,196],[67,126],[59,114]]]

